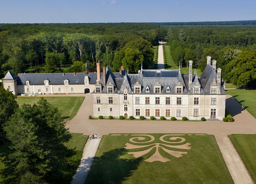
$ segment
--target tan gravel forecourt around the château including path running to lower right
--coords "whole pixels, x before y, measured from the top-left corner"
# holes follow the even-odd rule
[[[227,135],[236,133],[256,134],[256,119],[232,96],[226,95],[226,108],[233,116],[234,122],[89,120],[88,116],[93,114],[92,94],[85,94],[84,96],[85,100],[77,115],[66,124],[70,132],[86,135],[96,133],[98,136],[109,133],[213,134],[235,184],[253,183]]]

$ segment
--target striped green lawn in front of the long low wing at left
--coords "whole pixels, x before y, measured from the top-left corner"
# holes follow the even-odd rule
[[[40,96],[42,97],[42,96]],[[28,103],[34,104],[40,100],[40,97],[17,97],[16,101],[19,105]],[[62,112],[62,118],[65,121],[71,120],[76,113],[80,106],[82,105],[84,98],[82,96],[61,96],[61,97],[44,97],[48,102],[50,102],[53,106],[58,107],[58,109]]]

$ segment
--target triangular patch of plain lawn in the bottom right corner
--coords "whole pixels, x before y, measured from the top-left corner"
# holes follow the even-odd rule
[[[256,134],[231,134],[228,137],[256,183]]]

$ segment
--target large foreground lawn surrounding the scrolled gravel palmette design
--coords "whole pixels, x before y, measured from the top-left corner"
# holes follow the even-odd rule
[[[148,136],[143,138],[134,138],[131,134],[121,135],[105,135],[102,137],[94,161],[86,180],[86,184],[90,183],[127,183],[127,184],[148,184],[148,183],[186,183],[186,184],[217,184],[217,183],[234,183],[227,166],[222,158],[219,147],[213,135],[174,135],[165,136],[164,142],[160,137],[165,134],[148,134],[155,137],[150,141]],[[141,136],[140,136],[141,137]],[[181,139],[169,139],[170,137],[182,137],[185,141],[179,143]],[[133,143],[131,141],[141,142]],[[177,142],[177,143],[169,143]],[[167,143],[168,142],[168,143]],[[149,145],[144,148],[124,149],[125,144],[132,145]],[[161,143],[158,148],[161,159],[169,159],[170,161],[147,162],[156,152],[156,148],[151,149],[148,153],[139,151],[151,148],[152,143]],[[168,145],[182,145],[190,143],[191,149],[170,148]],[[164,144],[164,145],[163,145]],[[167,146],[166,146],[167,145]],[[128,145],[129,146],[129,145]],[[130,147],[131,148],[131,147]],[[165,150],[164,150],[165,149]],[[175,157],[177,152],[187,152],[183,156]],[[128,152],[136,152],[141,155],[137,158]],[[135,154],[136,154],[135,153]],[[160,158],[159,154],[154,158]],[[161,160],[160,159],[160,160]],[[152,160],[151,160],[152,161]]]

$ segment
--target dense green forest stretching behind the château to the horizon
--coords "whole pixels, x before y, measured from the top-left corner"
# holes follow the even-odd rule
[[[255,87],[255,22],[0,24],[0,76],[83,72],[85,62],[93,72],[96,60],[114,72],[123,65],[137,73],[141,62],[145,69],[154,62],[153,46],[167,41],[177,65],[193,60],[204,69],[210,55],[224,80]]]

